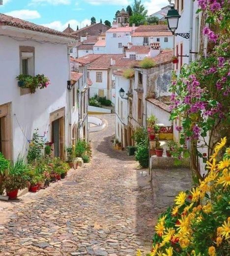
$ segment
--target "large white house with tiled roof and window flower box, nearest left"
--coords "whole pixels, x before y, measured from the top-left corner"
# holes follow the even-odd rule
[[[7,159],[26,157],[36,128],[64,156],[78,124],[77,102],[67,90],[71,73],[68,45],[75,39],[27,21],[0,14],[0,151]],[[16,76],[44,74],[50,85],[31,94]],[[75,91],[76,92],[76,91]],[[75,108],[75,110],[73,110]]]

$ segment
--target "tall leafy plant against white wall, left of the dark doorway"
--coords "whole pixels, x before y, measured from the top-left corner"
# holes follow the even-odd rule
[[[29,143],[27,160],[29,164],[34,164],[36,160],[42,158],[43,140],[39,137],[38,129],[35,129],[32,140]]]

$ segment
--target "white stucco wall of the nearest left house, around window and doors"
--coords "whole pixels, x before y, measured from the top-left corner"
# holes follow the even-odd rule
[[[60,44],[17,41],[0,36],[0,104],[12,102],[13,158],[27,154],[28,141],[35,128],[50,140],[50,113],[65,107],[65,141],[68,141],[69,64],[67,47]],[[49,77],[51,85],[35,94],[20,96],[16,76],[20,74],[19,46],[35,47],[35,74]],[[61,60],[61,61],[60,61]],[[17,119],[16,119],[17,118]],[[17,121],[18,120],[18,121]],[[21,128],[22,130],[21,130]],[[25,136],[24,136],[24,134]]]

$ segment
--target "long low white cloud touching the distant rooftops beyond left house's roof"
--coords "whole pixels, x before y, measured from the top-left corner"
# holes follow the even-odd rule
[[[42,24],[42,26],[48,27],[50,29],[58,30],[58,31],[63,31],[68,27],[68,24],[70,24],[70,27],[73,30],[77,30],[77,26],[79,27],[79,29],[81,29],[83,27],[86,27],[86,25],[90,25],[91,22],[88,19],[85,19],[81,22],[77,20],[69,20],[66,23],[61,23],[60,21],[54,21],[48,24]]]

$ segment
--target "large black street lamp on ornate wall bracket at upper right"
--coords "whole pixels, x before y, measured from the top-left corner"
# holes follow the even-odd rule
[[[190,33],[175,33],[178,27],[180,17],[181,16],[179,15],[178,11],[174,8],[174,6],[171,6],[171,9],[168,11],[167,16],[165,16],[168,22],[168,27],[170,31],[173,33],[173,35],[179,35],[181,37],[189,39]]]

